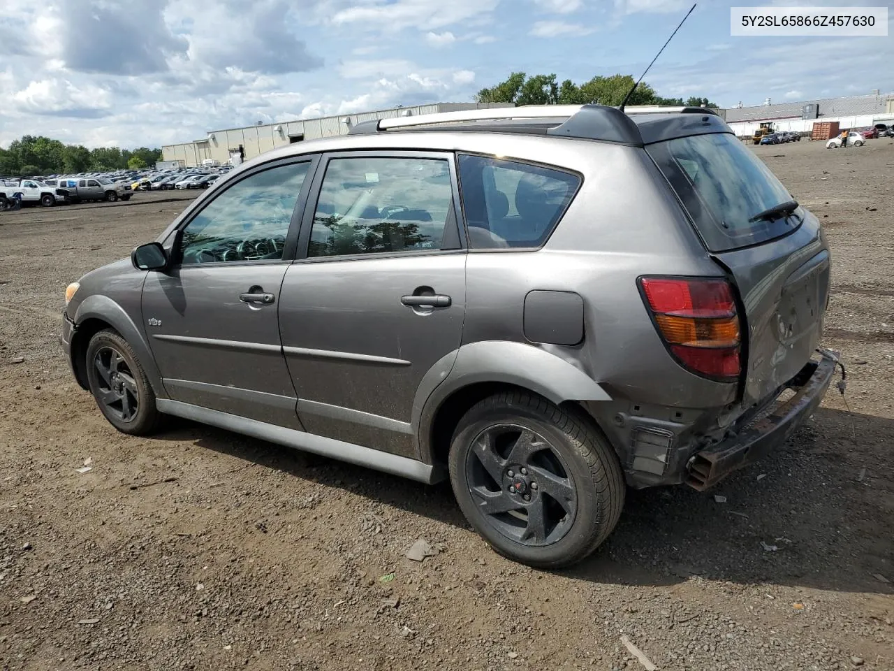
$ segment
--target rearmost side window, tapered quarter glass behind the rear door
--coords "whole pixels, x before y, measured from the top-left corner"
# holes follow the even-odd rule
[[[460,188],[469,247],[540,247],[579,186],[577,174],[461,154]]]

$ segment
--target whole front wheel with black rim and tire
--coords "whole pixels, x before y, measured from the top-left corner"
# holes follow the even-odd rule
[[[117,331],[99,331],[87,346],[87,379],[99,411],[115,429],[148,436],[162,420],[156,394],[136,353]]]

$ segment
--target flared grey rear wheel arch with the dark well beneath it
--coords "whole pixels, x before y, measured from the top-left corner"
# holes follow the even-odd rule
[[[579,402],[611,401],[583,370],[533,344],[482,341],[463,345],[436,363],[419,386],[411,420],[417,458],[428,464],[443,463],[456,422],[478,401],[506,389],[540,395],[576,412],[583,412]]]

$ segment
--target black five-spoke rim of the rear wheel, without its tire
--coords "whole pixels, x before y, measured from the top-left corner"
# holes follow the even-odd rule
[[[574,522],[578,495],[561,454],[518,424],[495,424],[478,434],[466,478],[487,522],[516,542],[548,545]]]

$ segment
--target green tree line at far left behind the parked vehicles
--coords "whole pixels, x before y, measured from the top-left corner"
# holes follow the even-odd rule
[[[23,135],[9,149],[0,148],[0,175],[31,177],[40,174],[70,174],[111,170],[141,170],[161,160],[161,149],[87,149],[63,144],[44,136]]]

